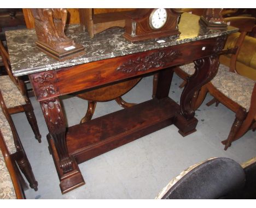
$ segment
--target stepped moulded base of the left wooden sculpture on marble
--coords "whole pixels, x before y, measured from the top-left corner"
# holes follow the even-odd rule
[[[60,51],[54,50],[54,48],[46,45],[44,42],[41,42],[41,41],[36,41],[36,45],[39,50],[43,51],[44,53],[48,54],[50,57],[53,57],[59,61],[77,57],[85,53],[84,46],[80,44],[75,44],[74,48],[72,48],[71,50],[62,49]]]

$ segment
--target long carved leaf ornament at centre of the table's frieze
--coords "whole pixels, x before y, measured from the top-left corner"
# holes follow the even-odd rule
[[[180,51],[158,51],[150,53],[146,57],[138,57],[136,59],[130,59],[128,62],[120,65],[117,71],[130,74],[139,71],[147,71],[153,68],[164,67],[167,63],[172,62],[178,56],[182,56]]]

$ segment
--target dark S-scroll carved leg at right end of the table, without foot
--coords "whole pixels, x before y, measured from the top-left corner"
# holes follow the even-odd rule
[[[187,120],[194,118],[195,111],[191,105],[193,95],[198,91],[202,85],[210,82],[217,74],[219,67],[219,59],[217,55],[198,59],[194,61],[195,73],[188,77],[187,85],[181,95],[181,112]]]

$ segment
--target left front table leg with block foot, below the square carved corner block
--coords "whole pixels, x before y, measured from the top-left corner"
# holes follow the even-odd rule
[[[66,124],[58,97],[40,101],[49,135],[48,142],[60,178],[62,193],[84,185],[84,179],[66,143]]]

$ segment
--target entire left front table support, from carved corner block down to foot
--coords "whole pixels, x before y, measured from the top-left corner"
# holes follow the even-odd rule
[[[67,193],[85,182],[73,156],[68,154],[66,122],[57,97],[60,92],[55,71],[30,75],[30,81],[49,130],[47,139],[59,175],[61,192]]]

